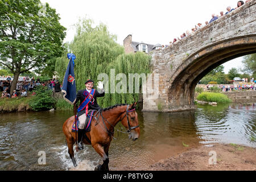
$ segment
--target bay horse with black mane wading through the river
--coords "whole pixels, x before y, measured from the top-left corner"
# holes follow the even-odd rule
[[[109,146],[114,136],[114,127],[119,121],[126,127],[129,139],[135,141],[139,138],[141,130],[138,125],[136,106],[137,102],[134,102],[133,105],[114,105],[98,110],[93,115],[90,131],[85,133],[86,136],[82,137],[82,143],[91,144],[103,160],[103,164],[98,165],[94,170],[109,171]],[[76,167],[77,164],[73,151],[73,144],[76,142],[76,133],[72,132],[74,121],[75,116],[68,118],[63,124],[63,132],[68,144],[68,154],[72,159],[74,167]],[[78,151],[77,148],[76,151]]]

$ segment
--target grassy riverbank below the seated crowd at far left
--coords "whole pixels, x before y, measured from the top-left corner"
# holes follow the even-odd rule
[[[0,98],[0,113],[32,110],[28,104],[31,100],[32,96],[30,95],[18,98]]]

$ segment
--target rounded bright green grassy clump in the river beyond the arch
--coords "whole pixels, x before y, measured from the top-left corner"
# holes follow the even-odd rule
[[[229,103],[231,100],[222,93],[214,93],[214,92],[202,92],[196,98],[199,101],[206,102],[217,102],[217,103]]]

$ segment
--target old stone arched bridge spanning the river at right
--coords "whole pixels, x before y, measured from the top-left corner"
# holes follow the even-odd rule
[[[226,61],[256,53],[255,10],[256,1],[250,1],[194,35],[152,51],[152,75],[159,76],[159,86],[158,92],[143,94],[143,111],[194,109],[201,78]]]

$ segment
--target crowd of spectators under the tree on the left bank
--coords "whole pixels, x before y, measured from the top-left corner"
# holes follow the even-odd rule
[[[23,78],[23,81],[18,81],[16,84],[16,89],[13,91],[12,96],[10,95],[10,88],[11,88],[11,77],[7,77],[6,80],[0,80],[0,92],[2,92],[1,98],[5,97],[27,97],[28,92],[33,92],[33,90],[36,89],[37,86],[43,85],[47,86],[49,90],[52,90],[53,92],[61,92],[61,85],[59,83],[59,80],[56,80],[55,78],[48,80],[46,82],[40,81],[40,78],[37,78],[35,80],[34,77],[31,79],[26,76]]]

